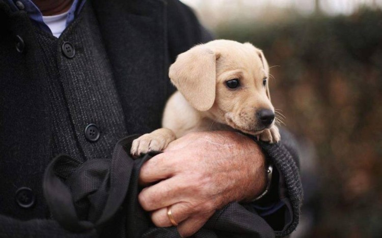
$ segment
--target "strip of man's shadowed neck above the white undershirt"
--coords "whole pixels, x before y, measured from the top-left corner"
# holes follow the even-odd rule
[[[53,16],[69,11],[73,0],[33,0],[43,16]]]

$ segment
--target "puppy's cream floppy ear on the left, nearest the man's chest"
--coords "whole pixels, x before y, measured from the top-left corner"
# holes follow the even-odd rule
[[[185,99],[197,110],[210,109],[215,101],[216,54],[197,45],[178,55],[169,77]]]

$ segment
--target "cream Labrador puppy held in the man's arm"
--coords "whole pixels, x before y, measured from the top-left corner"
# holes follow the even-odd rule
[[[263,52],[250,43],[215,40],[178,55],[169,77],[178,91],[166,104],[161,129],[135,139],[131,154],[163,151],[189,132],[234,130],[275,143],[275,109]]]

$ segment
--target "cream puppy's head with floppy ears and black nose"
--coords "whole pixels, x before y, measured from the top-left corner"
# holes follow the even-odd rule
[[[180,54],[169,76],[185,99],[216,122],[249,134],[274,123],[268,63],[250,43],[215,40]]]

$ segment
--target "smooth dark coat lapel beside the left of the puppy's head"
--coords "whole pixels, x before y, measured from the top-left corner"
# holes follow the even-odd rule
[[[167,100],[166,3],[92,2],[129,134],[160,127]]]

